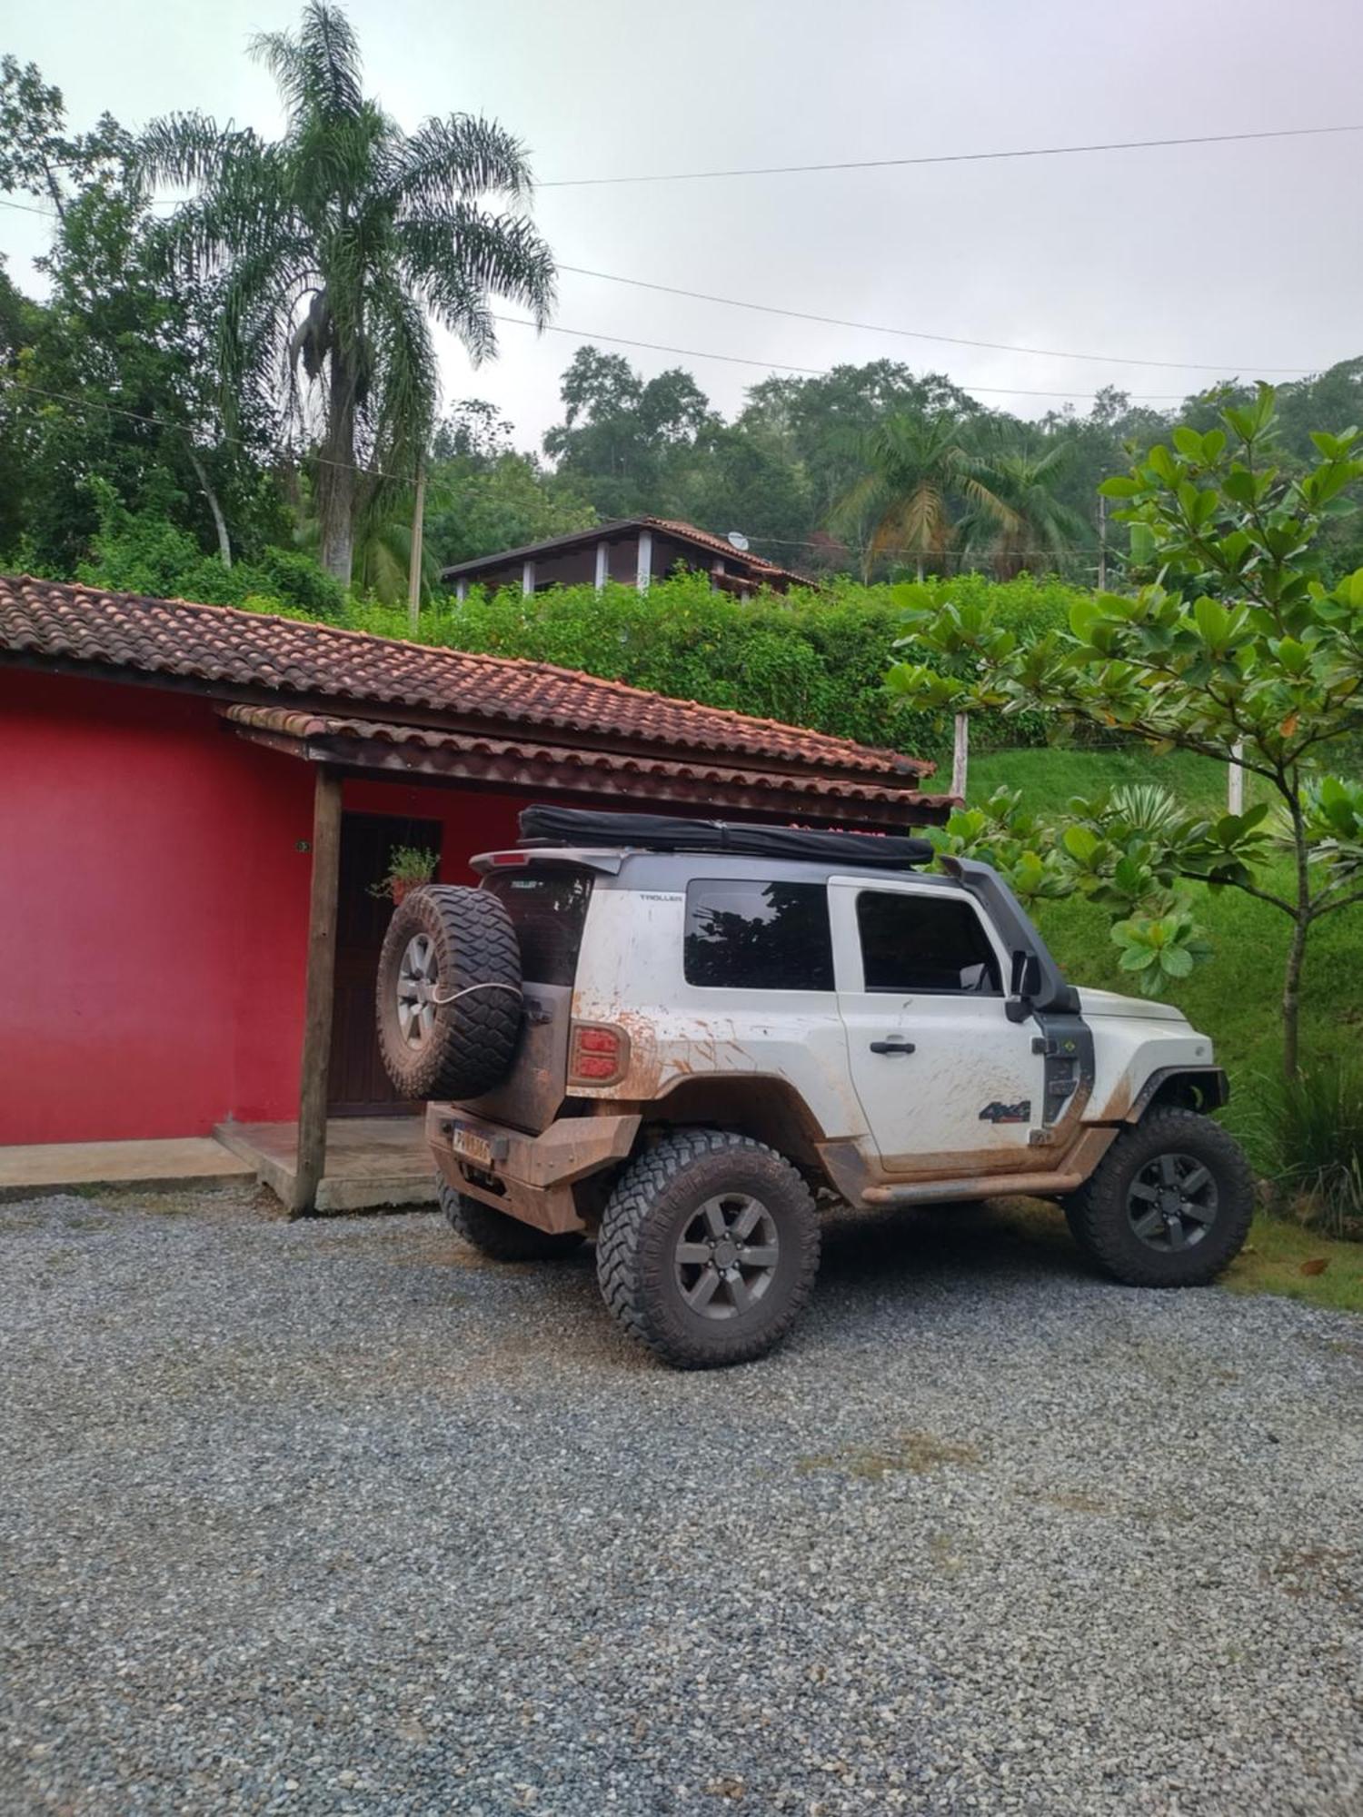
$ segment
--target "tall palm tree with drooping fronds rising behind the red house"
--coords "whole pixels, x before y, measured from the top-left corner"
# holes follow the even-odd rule
[[[356,512],[423,458],[438,394],[431,318],[474,362],[489,358],[489,298],[543,325],[554,262],[523,214],[482,205],[529,200],[520,142],[469,114],[403,133],[363,96],[338,7],[309,0],[296,36],[265,33],[251,55],[280,87],[284,138],[171,114],[144,133],[138,165],[145,184],[193,191],[165,223],[164,256],[222,280],[229,409],[251,391],[274,400],[282,383],[285,420],[316,440],[322,563],[349,583]]]

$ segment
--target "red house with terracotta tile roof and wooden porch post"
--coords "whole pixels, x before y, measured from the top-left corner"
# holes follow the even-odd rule
[[[889,830],[943,818],[927,769],[545,663],[0,578],[0,1143],[284,1125],[311,1206],[329,1117],[411,1108],[373,1036],[396,845],[471,881],[545,798]]]

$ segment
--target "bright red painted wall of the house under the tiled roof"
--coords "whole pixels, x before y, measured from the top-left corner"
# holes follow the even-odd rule
[[[445,821],[445,881],[520,801],[356,781]],[[207,701],[0,669],[0,1143],[294,1116],[309,765]]]

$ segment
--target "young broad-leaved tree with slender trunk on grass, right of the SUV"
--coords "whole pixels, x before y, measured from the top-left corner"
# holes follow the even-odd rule
[[[1352,509],[1347,492],[1363,460],[1354,429],[1316,432],[1316,462],[1301,474],[1267,460],[1276,427],[1267,385],[1254,403],[1225,409],[1223,423],[1183,425],[1172,447],[1156,443],[1130,474],[1105,482],[1134,556],[1156,576],[1136,596],[1081,600],[1067,630],[1041,636],[1016,636],[987,605],[912,611],[909,625],[938,661],[900,663],[890,685],[918,707],[1043,709],[1067,725],[1196,750],[1258,776],[1267,799],[1245,814],[1150,829],[1125,870],[1132,854],[1116,850],[1107,803],[1081,805],[1089,825],[1070,827],[1063,843],[1127,899],[1198,879],[1245,890],[1288,919],[1281,1018],[1292,1077],[1308,936],[1363,901],[1363,787],[1328,774],[1325,761],[1363,729],[1363,571],[1334,587],[1319,572],[1325,529]],[[956,674],[943,672],[943,658]],[[1018,858],[1014,876],[1034,869]],[[1158,963],[1149,952],[1169,932],[1159,919],[1127,927],[1123,967]]]

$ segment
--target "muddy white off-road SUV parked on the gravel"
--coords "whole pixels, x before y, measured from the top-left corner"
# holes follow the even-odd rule
[[[1212,1043],[1076,990],[994,870],[930,859],[529,809],[480,889],[411,894],[380,1043],[454,1228],[507,1261],[594,1234],[605,1303],[683,1368],[783,1335],[836,1199],[1060,1199],[1119,1281],[1210,1281],[1252,1210]]]

